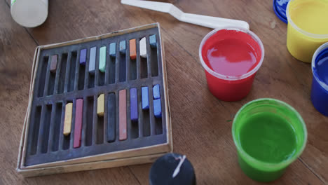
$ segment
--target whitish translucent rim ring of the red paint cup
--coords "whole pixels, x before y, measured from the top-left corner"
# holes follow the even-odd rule
[[[207,41],[207,39],[210,38],[210,36],[212,36],[213,34],[216,34],[217,32],[219,32],[220,30],[223,30],[223,29],[234,30],[234,31],[244,32],[246,34],[249,34],[252,37],[252,39],[254,39],[254,41],[256,41],[257,44],[259,44],[259,47],[261,48],[261,59],[259,60],[259,62],[257,62],[257,65],[254,67],[254,69],[252,69],[251,71],[248,71],[246,74],[242,74],[240,76],[228,76],[228,75],[219,74],[207,66],[207,64],[203,60],[203,55],[202,55],[203,46],[204,46],[205,42]],[[208,33],[206,36],[204,36],[203,40],[200,42],[198,55],[199,55],[200,63],[202,64],[203,68],[207,72],[209,72],[212,76],[215,76],[217,78],[220,78],[220,79],[223,79],[226,81],[238,81],[238,80],[247,78],[249,76],[252,76],[259,70],[259,68],[261,67],[261,64],[263,63],[263,60],[264,60],[264,46],[263,46],[261,39],[259,39],[259,36],[254,34],[254,32],[250,31],[249,29],[244,29],[242,27],[221,27],[221,28],[212,30],[210,33]]]

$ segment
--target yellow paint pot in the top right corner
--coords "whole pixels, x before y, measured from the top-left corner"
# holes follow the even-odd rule
[[[328,42],[328,0],[291,0],[286,15],[289,53],[311,62],[315,50]]]

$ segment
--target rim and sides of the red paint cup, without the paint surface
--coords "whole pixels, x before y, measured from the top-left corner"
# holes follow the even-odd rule
[[[257,55],[257,64],[255,65],[254,68],[252,68],[252,70],[247,71],[247,73],[242,74],[240,76],[227,76],[213,71],[213,69],[205,63],[202,55],[203,46],[208,39],[211,39],[211,36],[213,34],[216,34],[218,31],[222,29],[244,32],[251,36],[251,38],[254,40],[253,43],[258,44],[257,47],[251,46],[254,49],[256,48],[259,49],[254,51],[259,55]],[[238,38],[233,38],[233,39],[238,39]],[[235,53],[235,55],[238,55],[238,53]],[[226,102],[238,101],[241,100],[243,97],[245,97],[248,93],[250,93],[254,81],[254,76],[256,72],[259,70],[259,67],[261,67],[261,64],[264,60],[264,46],[261,40],[259,39],[259,37],[253,32],[251,32],[250,30],[242,29],[238,27],[224,27],[220,29],[214,29],[212,32],[208,33],[204,37],[199,47],[199,58],[201,64],[205,69],[207,86],[210,92],[219,100],[224,100]]]

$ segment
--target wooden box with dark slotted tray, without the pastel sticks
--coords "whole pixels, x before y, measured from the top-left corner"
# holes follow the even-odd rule
[[[154,34],[157,39],[157,47],[151,48],[149,46],[149,36]],[[146,37],[146,59],[142,59],[139,55],[139,41],[143,37]],[[137,58],[135,60],[131,60],[128,55],[130,39],[136,39]],[[126,56],[119,52],[120,48],[118,45],[120,41],[126,41]],[[108,55],[109,43],[116,43],[115,57]],[[99,64],[96,64],[95,74],[89,74],[90,48],[97,47],[96,61],[98,61],[100,58],[99,48],[101,46],[107,46],[108,48],[106,50],[106,64],[108,67],[102,73],[97,70]],[[79,55],[83,48],[88,50],[85,67],[78,63]],[[29,88],[29,104],[22,130],[17,171],[25,177],[31,177],[136,165],[151,163],[159,156],[171,152],[172,132],[163,51],[163,41],[160,36],[158,23],[37,47],[34,54]],[[51,56],[53,55],[57,55],[58,58],[55,73],[50,71]],[[120,63],[123,60],[125,60],[124,69]],[[154,66],[156,66],[156,63],[153,63],[155,60],[157,60],[158,64],[157,76],[156,73],[155,75],[152,73]],[[144,65],[142,62],[145,61],[146,68],[144,67],[144,70],[146,72],[141,69],[142,65]],[[113,67],[111,64],[114,66],[114,83],[110,83],[110,80],[107,80],[111,78],[110,71],[111,67]],[[153,68],[151,68],[152,66]],[[132,74],[129,74],[129,71],[132,70],[136,72],[135,79],[130,79]],[[124,71],[126,72],[125,81],[121,81],[119,75],[124,73]],[[142,73],[146,75],[146,78],[142,78]],[[66,77],[63,77],[64,74]],[[60,86],[61,83],[62,86]],[[94,84],[90,85],[92,83]],[[160,121],[153,115],[151,99],[151,88],[156,84],[160,85],[160,101],[162,102],[162,117]],[[140,90],[144,86],[149,87],[150,90],[148,113],[141,109]],[[106,135],[109,130],[109,121],[106,114],[109,114],[109,111],[105,108],[103,119],[95,115],[97,95],[104,93],[105,100],[107,100],[107,95],[114,93],[116,100],[118,100],[118,90],[126,89],[129,92],[130,88],[137,88],[138,90],[139,119],[137,123],[133,123],[130,120],[130,112],[128,111],[130,108],[128,104],[130,96],[128,94],[126,97],[128,139],[123,141],[118,139],[118,120],[120,117],[117,108],[116,114],[114,114],[116,115],[114,116],[116,120],[112,123],[114,124],[115,131],[113,133],[116,135],[116,139],[114,142],[107,142]],[[71,136],[64,136],[62,129],[65,104],[72,102],[74,107],[77,98],[83,99],[85,104],[83,104],[81,147],[74,148],[72,146],[74,142],[74,115],[71,121]],[[88,102],[91,103],[88,104]],[[118,102],[116,102],[116,107],[118,107]],[[75,109],[73,108],[73,114],[74,111]],[[146,124],[149,124],[149,126]],[[90,128],[92,128],[92,131],[87,131]],[[146,132],[148,132],[147,135],[145,134]],[[88,144],[87,140],[89,140]]]

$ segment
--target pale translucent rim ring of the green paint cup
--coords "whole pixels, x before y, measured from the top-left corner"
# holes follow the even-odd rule
[[[303,144],[301,146],[301,149],[299,150],[298,153],[295,153],[292,158],[289,158],[288,160],[284,160],[280,163],[268,163],[268,162],[264,162],[261,160],[257,160],[256,158],[253,158],[252,156],[250,156],[244,149],[242,149],[242,147],[240,146],[240,144],[237,142],[237,139],[235,137],[235,121],[236,118],[239,116],[239,114],[246,108],[248,107],[250,104],[253,103],[257,103],[257,102],[275,102],[280,104],[282,107],[286,107],[287,109],[289,109],[290,111],[292,111],[295,116],[299,119],[299,121],[301,122],[303,131],[304,131],[304,141]],[[277,100],[274,98],[259,98],[257,100],[252,100],[250,102],[248,102],[247,104],[244,104],[239,111],[237,112],[237,114],[235,114],[235,118],[233,118],[233,125],[232,125],[232,129],[231,129],[232,135],[233,135],[233,142],[235,144],[235,147],[237,148],[237,151],[240,153],[240,156],[243,156],[245,159],[245,161],[247,161],[247,163],[252,163],[253,167],[257,167],[260,170],[265,170],[265,171],[275,171],[275,170],[281,170],[284,167],[287,167],[289,164],[293,163],[294,160],[296,160],[299,156],[301,156],[301,153],[303,153],[305,147],[306,147],[306,142],[308,139],[308,130],[306,129],[306,123],[304,122],[303,118],[301,117],[301,115],[299,114],[298,111],[296,111],[296,109],[294,109],[294,107],[290,106],[289,104],[287,104],[286,102],[282,102],[281,100]]]

